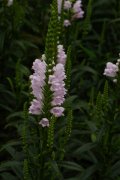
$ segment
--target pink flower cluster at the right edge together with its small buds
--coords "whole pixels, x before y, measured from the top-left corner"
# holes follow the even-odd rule
[[[117,77],[117,73],[119,71],[119,64],[120,64],[120,59],[117,60],[116,64],[108,62],[106,64],[106,68],[104,70],[103,75],[111,77],[111,78],[113,78],[113,82],[117,82],[116,77]]]

